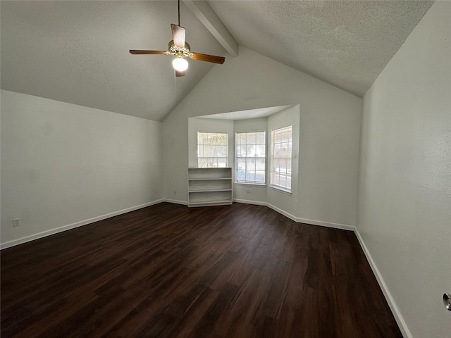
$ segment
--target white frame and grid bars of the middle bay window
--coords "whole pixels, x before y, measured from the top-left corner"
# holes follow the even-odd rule
[[[264,139],[264,144],[259,144],[257,143],[257,139],[258,139],[258,135],[263,133],[263,139]],[[245,148],[247,149],[247,146],[252,146],[254,145],[256,147],[256,156],[247,156],[247,154],[245,154],[245,156],[242,156],[242,153],[240,154],[240,151],[238,151],[238,134],[246,134],[246,142],[245,142]],[[247,143],[247,135],[248,134],[255,134],[255,139],[256,142],[255,144],[248,144]],[[240,144],[241,146],[243,144]],[[263,151],[264,151],[264,156],[257,156],[257,146],[263,146]],[[245,180],[239,180],[239,173],[238,173],[238,163],[240,162],[239,159],[244,159],[245,160]],[[254,180],[247,180],[247,160],[256,160],[256,163],[254,163]],[[263,160],[264,163],[264,169],[263,170],[257,170],[257,160]],[[267,165],[266,163],[268,163],[267,161],[267,151],[266,151],[266,130],[259,130],[257,132],[235,132],[235,183],[236,184],[249,184],[249,185],[262,185],[262,186],[266,186],[266,170],[267,170]],[[252,169],[249,169],[249,171],[252,171]],[[257,180],[255,180],[257,178],[257,172],[259,173],[263,173],[263,182],[258,182]]]

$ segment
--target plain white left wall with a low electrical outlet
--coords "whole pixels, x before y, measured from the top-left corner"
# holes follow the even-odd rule
[[[160,199],[160,149],[161,123],[2,90],[2,247]]]

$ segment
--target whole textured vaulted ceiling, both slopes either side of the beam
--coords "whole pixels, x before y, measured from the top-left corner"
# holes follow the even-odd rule
[[[240,46],[357,96],[433,3],[207,1],[202,6],[217,20],[204,25],[193,1],[185,2],[181,25],[192,51],[227,63],[229,49],[208,27],[219,22]],[[186,76],[175,77],[171,57],[128,53],[167,49],[178,20],[174,0],[1,1],[0,11],[1,88],[13,92],[163,120],[212,67],[223,66],[190,60]]]

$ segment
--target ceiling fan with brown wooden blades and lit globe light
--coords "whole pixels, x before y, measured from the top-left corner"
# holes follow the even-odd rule
[[[185,70],[188,68],[188,61],[185,57],[190,57],[193,60],[206,61],[212,63],[223,64],[226,58],[223,56],[214,56],[208,54],[193,53],[190,51],[190,45],[185,42],[185,28],[180,26],[180,0],[178,0],[178,25],[171,23],[172,37],[169,42],[168,51],[144,51],[138,49],[130,49],[131,54],[161,54],[161,55],[173,55],[175,58],[172,61],[173,68],[175,69],[175,76],[185,76]]]

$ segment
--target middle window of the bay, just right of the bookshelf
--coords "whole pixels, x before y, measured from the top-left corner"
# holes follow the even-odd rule
[[[265,183],[265,132],[237,132],[236,180],[242,183]]]

